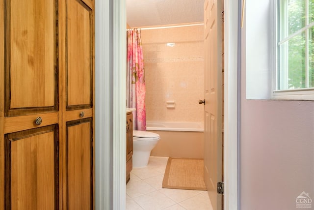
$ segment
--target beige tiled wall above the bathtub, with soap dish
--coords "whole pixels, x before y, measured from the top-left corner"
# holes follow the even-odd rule
[[[203,121],[204,106],[198,104],[204,97],[203,27],[141,31],[147,120]],[[167,101],[174,107],[167,108]]]

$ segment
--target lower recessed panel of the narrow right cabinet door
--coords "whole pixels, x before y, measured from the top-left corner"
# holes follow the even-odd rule
[[[68,209],[93,209],[92,118],[66,123]]]

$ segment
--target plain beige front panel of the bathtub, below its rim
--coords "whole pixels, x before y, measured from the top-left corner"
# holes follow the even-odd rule
[[[150,131],[160,136],[151,156],[204,158],[204,132]]]

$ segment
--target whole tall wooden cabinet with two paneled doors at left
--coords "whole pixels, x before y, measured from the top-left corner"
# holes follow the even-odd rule
[[[0,209],[94,209],[94,0],[0,14]]]

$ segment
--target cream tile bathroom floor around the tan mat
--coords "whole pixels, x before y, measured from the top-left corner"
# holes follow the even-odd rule
[[[207,191],[162,188],[168,157],[151,156],[145,168],[133,168],[127,184],[127,210],[212,210]]]

